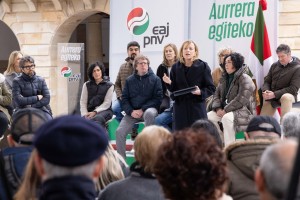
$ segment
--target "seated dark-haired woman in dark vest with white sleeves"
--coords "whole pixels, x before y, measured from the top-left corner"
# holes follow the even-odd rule
[[[80,113],[105,127],[105,123],[113,116],[111,103],[114,85],[104,79],[105,67],[102,62],[91,64],[87,74],[89,81],[82,86]]]

